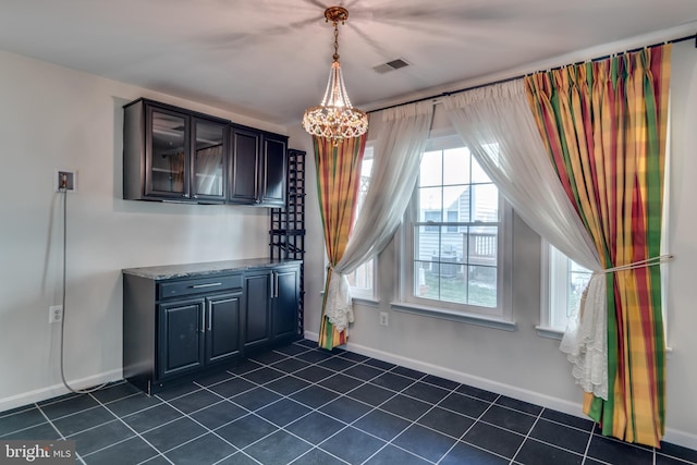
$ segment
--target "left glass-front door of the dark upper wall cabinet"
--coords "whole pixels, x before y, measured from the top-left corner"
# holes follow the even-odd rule
[[[146,171],[146,195],[188,197],[188,118],[148,107],[147,132],[150,156]]]

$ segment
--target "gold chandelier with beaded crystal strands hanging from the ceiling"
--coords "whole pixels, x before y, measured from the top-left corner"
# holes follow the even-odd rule
[[[358,137],[368,131],[368,115],[353,108],[339,63],[339,27],[346,23],[348,11],[342,7],[325,10],[327,22],[334,26],[334,54],[329,70],[325,98],[317,107],[305,110],[303,127],[314,136],[325,137],[338,145],[345,138]]]

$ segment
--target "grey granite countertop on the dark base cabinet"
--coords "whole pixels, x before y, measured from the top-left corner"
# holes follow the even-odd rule
[[[166,280],[172,278],[205,277],[231,271],[245,271],[248,269],[262,269],[283,264],[299,264],[299,260],[278,260],[270,258],[246,258],[243,260],[205,261],[200,264],[163,265],[159,267],[125,268],[124,274],[133,274],[151,280]]]

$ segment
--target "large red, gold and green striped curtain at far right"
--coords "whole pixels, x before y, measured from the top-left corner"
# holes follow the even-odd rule
[[[670,52],[665,45],[526,78],[552,164],[608,271],[608,399],[586,392],[584,412],[603,435],[651,446],[660,446],[664,433],[665,342],[656,265]]]

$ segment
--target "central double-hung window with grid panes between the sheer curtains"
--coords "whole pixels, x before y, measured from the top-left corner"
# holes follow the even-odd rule
[[[398,306],[510,321],[509,212],[458,137],[429,142],[404,222]]]

